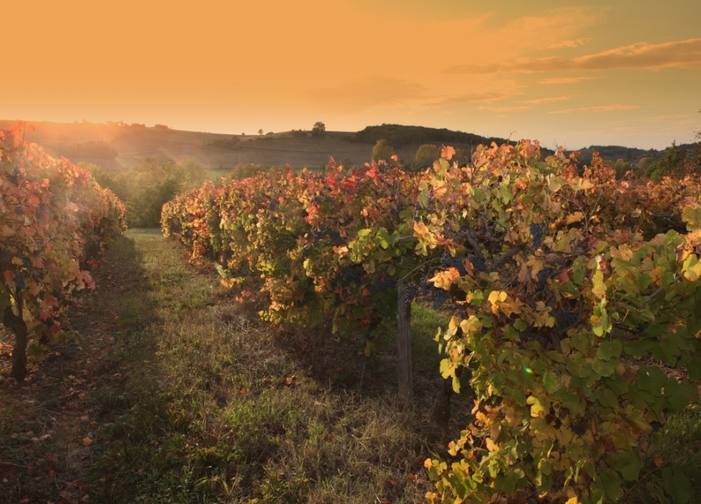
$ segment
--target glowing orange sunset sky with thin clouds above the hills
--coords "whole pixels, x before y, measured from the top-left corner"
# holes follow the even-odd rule
[[[398,123],[662,149],[701,130],[698,0],[15,1],[0,118]]]

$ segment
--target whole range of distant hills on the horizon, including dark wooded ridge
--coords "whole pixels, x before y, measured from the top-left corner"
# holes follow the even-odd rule
[[[17,123],[0,121],[0,128],[11,128]],[[28,142],[41,145],[52,156],[66,156],[75,163],[87,161],[109,170],[131,170],[143,165],[147,158],[156,158],[159,162],[193,158],[209,166],[212,176],[224,175],[236,165],[248,163],[278,167],[288,163],[292,168],[320,168],[328,163],[329,156],[346,165],[362,165],[369,161],[375,142],[383,138],[404,162],[414,159],[421,144],[473,149],[478,144],[506,142],[503,138],[447,128],[398,124],[367,126],[358,132],[327,131],[323,136],[312,136],[302,130],[224,135],[172,130],[166,125],[36,121],[27,122],[25,132]],[[632,165],[645,158],[654,161],[665,154],[655,149],[592,145],[580,149],[580,164],[590,164],[593,151],[598,151],[612,164],[622,159]],[[552,154],[552,151],[543,149],[543,154]]]

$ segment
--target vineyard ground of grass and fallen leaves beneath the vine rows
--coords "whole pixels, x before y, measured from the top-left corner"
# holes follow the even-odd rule
[[[3,502],[418,503],[432,487],[423,461],[447,458],[470,421],[468,393],[447,426],[431,417],[433,334],[446,320],[421,305],[407,404],[391,341],[365,357],[362,335],[275,329],[158,230],[128,231],[95,277],[72,318],[80,340],[27,383],[0,386]],[[701,407],[648,442],[641,488],[654,496],[664,479],[656,461],[701,485],[699,451],[687,451],[701,442]]]

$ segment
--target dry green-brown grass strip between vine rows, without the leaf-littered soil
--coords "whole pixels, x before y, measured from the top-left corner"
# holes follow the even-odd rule
[[[94,299],[118,319],[93,397],[91,500],[423,501],[423,460],[440,436],[397,400],[381,362],[365,366],[362,347],[321,334],[322,348],[299,355],[300,335],[229,301],[216,275],[187,266],[157,231],[130,231],[109,254],[124,287]],[[437,320],[416,313],[419,367],[431,348],[435,374]],[[365,390],[351,385],[359,372]]]

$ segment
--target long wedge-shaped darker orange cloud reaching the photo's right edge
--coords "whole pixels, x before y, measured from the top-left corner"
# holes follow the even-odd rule
[[[575,58],[541,57],[494,64],[461,64],[443,74],[492,74],[497,71],[563,71],[611,69],[701,68],[701,39],[634,43]]]

